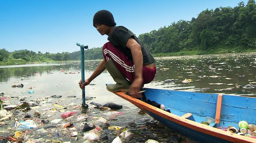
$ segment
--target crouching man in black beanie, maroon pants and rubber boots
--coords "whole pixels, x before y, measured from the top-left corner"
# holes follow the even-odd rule
[[[107,90],[129,92],[134,98],[141,98],[140,89],[155,77],[155,59],[130,30],[115,25],[111,12],[101,10],[95,13],[93,26],[101,35],[109,36],[109,42],[103,46],[104,60],[84,83],[80,80],[80,88],[84,88],[107,68],[116,82],[114,85],[107,85]]]

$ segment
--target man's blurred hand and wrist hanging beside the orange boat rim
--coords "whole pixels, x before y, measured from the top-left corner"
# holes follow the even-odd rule
[[[140,88],[142,87],[143,79],[136,78],[130,85],[130,92],[129,95],[134,98],[142,98],[142,94],[140,92]]]

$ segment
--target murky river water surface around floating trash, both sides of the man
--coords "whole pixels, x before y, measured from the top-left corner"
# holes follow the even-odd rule
[[[155,59],[156,77],[144,87],[256,97],[256,88],[254,88],[256,85],[256,53],[172,56],[157,57]],[[85,78],[93,73],[99,62],[100,60],[85,61]],[[17,98],[17,101],[7,101],[7,103],[12,104],[14,101],[17,104],[22,97],[25,97],[26,101],[30,101],[53,95],[62,96],[62,98],[54,99],[51,102],[39,104],[40,107],[37,110],[43,112],[42,109],[51,107],[54,103],[62,106],[68,106],[70,103],[81,103],[81,89],[78,86],[80,78],[80,62],[0,66],[0,92],[4,92],[5,96]],[[173,79],[175,82],[164,83],[163,81],[166,79]],[[190,83],[182,83],[184,79],[191,79],[192,81]],[[12,88],[12,85],[21,83],[24,85],[23,88]],[[163,128],[161,124],[155,122],[148,115],[138,114],[140,111],[138,107],[108,92],[105,83],[114,83],[107,70],[95,78],[91,85],[85,88],[85,92],[86,96],[95,97],[92,100],[88,100],[88,102],[101,104],[113,102],[123,105],[123,108],[118,110],[122,114],[115,117],[117,120],[108,122],[110,126],[129,127],[130,123],[136,123],[138,126],[147,127],[146,133],[135,134],[127,142],[145,142],[147,139],[155,139],[162,142],[182,142],[186,140],[184,137],[180,137],[180,135]],[[34,93],[28,94],[29,90],[33,90]],[[77,98],[68,98],[68,96],[76,96]],[[33,115],[33,112],[29,111],[28,113]],[[19,113],[19,115],[23,114],[25,113]],[[54,115],[49,115],[47,118],[53,120],[59,118],[60,115],[61,113],[54,113]],[[101,111],[92,109],[88,112],[88,115],[99,116]],[[8,132],[0,132],[0,136],[8,135],[15,131],[13,122],[9,121],[5,126],[0,127],[1,130],[2,128],[8,128]],[[138,126],[135,129],[138,129]],[[80,129],[82,127],[78,125],[77,128]],[[161,132],[158,130],[159,128],[162,128]],[[109,135],[108,140],[101,140],[100,142],[111,142],[117,133],[106,132],[105,134],[112,134],[112,136]],[[26,139],[31,137],[27,135]],[[65,135],[44,135],[37,138],[60,141],[70,140],[72,142],[81,141],[77,138],[70,139]]]

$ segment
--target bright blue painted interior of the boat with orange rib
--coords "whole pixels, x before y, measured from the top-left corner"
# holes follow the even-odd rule
[[[163,104],[165,111],[208,126],[239,129],[238,122],[256,124],[256,98],[144,88],[144,98],[155,107]],[[163,106],[162,105],[162,106]]]

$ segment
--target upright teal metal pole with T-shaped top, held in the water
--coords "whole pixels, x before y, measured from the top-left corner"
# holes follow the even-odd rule
[[[80,43],[76,43],[80,47],[80,58],[81,58],[81,81],[84,83],[85,79],[85,73],[84,73],[84,49],[87,49],[88,46],[81,45]],[[88,105],[85,104],[85,88],[82,89],[82,104],[83,107],[88,107]]]

